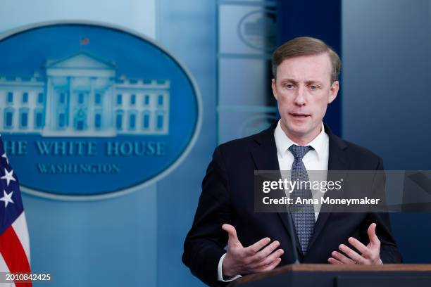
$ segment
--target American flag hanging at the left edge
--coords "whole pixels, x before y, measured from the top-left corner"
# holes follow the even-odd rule
[[[30,242],[20,186],[1,139],[0,155],[0,272],[30,273]],[[32,286],[32,283],[8,285],[20,287]]]

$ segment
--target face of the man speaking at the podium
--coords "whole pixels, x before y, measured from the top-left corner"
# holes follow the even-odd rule
[[[320,133],[328,103],[335,100],[339,82],[331,84],[327,53],[283,60],[273,79],[273,94],[285,134],[298,144],[308,144]]]

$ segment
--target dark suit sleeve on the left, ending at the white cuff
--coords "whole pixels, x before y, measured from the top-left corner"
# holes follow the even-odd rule
[[[218,281],[220,257],[226,253],[227,233],[221,229],[231,222],[229,182],[220,147],[215,148],[202,181],[202,192],[184,243],[182,262],[192,274],[210,286],[225,286]]]

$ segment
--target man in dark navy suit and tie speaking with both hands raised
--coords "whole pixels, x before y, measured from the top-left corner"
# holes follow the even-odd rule
[[[310,37],[292,39],[274,52],[272,88],[280,120],[215,148],[202,183],[182,260],[205,283],[223,286],[244,274],[294,262],[292,238],[303,263],[401,262],[387,213],[311,207],[289,219],[287,213],[254,212],[254,170],[292,170],[308,179],[307,170],[383,169],[377,155],[323,125],[327,105],[339,90],[340,66],[337,53]],[[301,193],[307,196],[311,192]]]

